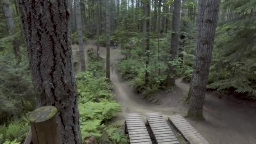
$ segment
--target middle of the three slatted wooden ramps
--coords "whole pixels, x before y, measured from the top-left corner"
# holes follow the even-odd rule
[[[161,113],[149,113],[146,117],[157,144],[179,144]]]

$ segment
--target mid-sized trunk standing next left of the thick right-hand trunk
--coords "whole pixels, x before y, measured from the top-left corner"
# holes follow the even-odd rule
[[[180,20],[181,20],[181,0],[174,0],[173,3],[173,20],[172,20],[172,30],[171,34],[171,61],[175,60],[178,57],[178,45],[179,45],[179,29],[180,29]],[[166,86],[175,85],[175,74],[176,70],[172,64],[168,64],[168,75],[166,79]]]

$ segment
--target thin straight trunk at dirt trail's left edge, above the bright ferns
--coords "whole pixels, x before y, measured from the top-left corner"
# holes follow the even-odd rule
[[[106,78],[110,81],[110,16],[109,16],[109,1],[105,1],[106,11],[106,37],[107,37],[107,56],[106,56]]]

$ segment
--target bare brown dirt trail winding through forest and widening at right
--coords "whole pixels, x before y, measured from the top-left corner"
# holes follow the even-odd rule
[[[78,46],[72,46],[73,51],[78,51]],[[88,40],[85,50],[93,48],[96,52],[96,44]],[[100,56],[106,58],[106,48],[100,47]],[[189,91],[189,84],[176,80],[176,88],[173,91],[163,91],[157,94],[160,104],[151,104],[133,93],[128,83],[122,80],[115,62],[122,59],[119,49],[110,50],[111,80],[115,89],[116,100],[122,106],[122,116],[117,123],[124,122],[126,113],[161,112],[164,116],[176,113],[185,115],[188,109],[182,99]],[[204,116],[206,121],[189,122],[199,131],[210,144],[256,144],[256,108],[240,103],[232,96],[220,95],[217,92],[209,92],[205,96]]]

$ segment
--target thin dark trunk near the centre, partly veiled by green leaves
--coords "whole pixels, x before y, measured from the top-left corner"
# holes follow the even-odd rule
[[[146,18],[149,17],[149,13],[150,13],[150,0],[143,0],[141,1],[143,3],[143,11],[144,11],[144,16]],[[148,65],[149,65],[149,53],[147,53],[147,51],[149,51],[149,19],[144,20],[146,23],[146,25],[144,26],[146,29],[144,29],[144,33],[146,33],[145,35],[145,42],[146,42],[146,51],[145,51],[145,56],[146,56],[146,70],[145,70],[145,83],[146,85],[149,83],[149,72],[148,72]]]

